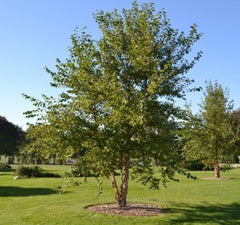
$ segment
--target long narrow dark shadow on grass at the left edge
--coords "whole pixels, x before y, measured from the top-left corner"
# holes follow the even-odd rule
[[[0,197],[25,197],[56,194],[51,188],[24,188],[15,186],[0,186]]]

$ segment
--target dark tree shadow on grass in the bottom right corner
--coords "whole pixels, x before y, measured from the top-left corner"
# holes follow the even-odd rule
[[[167,210],[168,213],[181,214],[171,219],[170,224],[240,224],[240,203],[218,205],[186,205]]]

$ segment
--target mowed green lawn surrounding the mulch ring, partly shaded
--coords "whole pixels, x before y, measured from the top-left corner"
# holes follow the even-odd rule
[[[49,172],[63,174],[67,166],[41,166]],[[240,168],[222,173],[222,180],[203,179],[211,171],[193,172],[197,181],[180,178],[167,188],[149,190],[130,181],[128,201],[161,207],[163,214],[151,217],[126,217],[89,212],[88,205],[112,203],[111,182],[105,180],[103,196],[90,178],[87,184],[59,194],[64,178],[14,180],[13,172],[0,172],[0,224],[83,224],[83,225],[166,225],[166,224],[240,224]]]

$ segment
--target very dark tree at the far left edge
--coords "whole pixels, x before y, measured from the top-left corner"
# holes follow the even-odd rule
[[[24,136],[20,127],[0,116],[0,154],[8,156],[9,163],[12,163],[11,158],[19,152]]]

